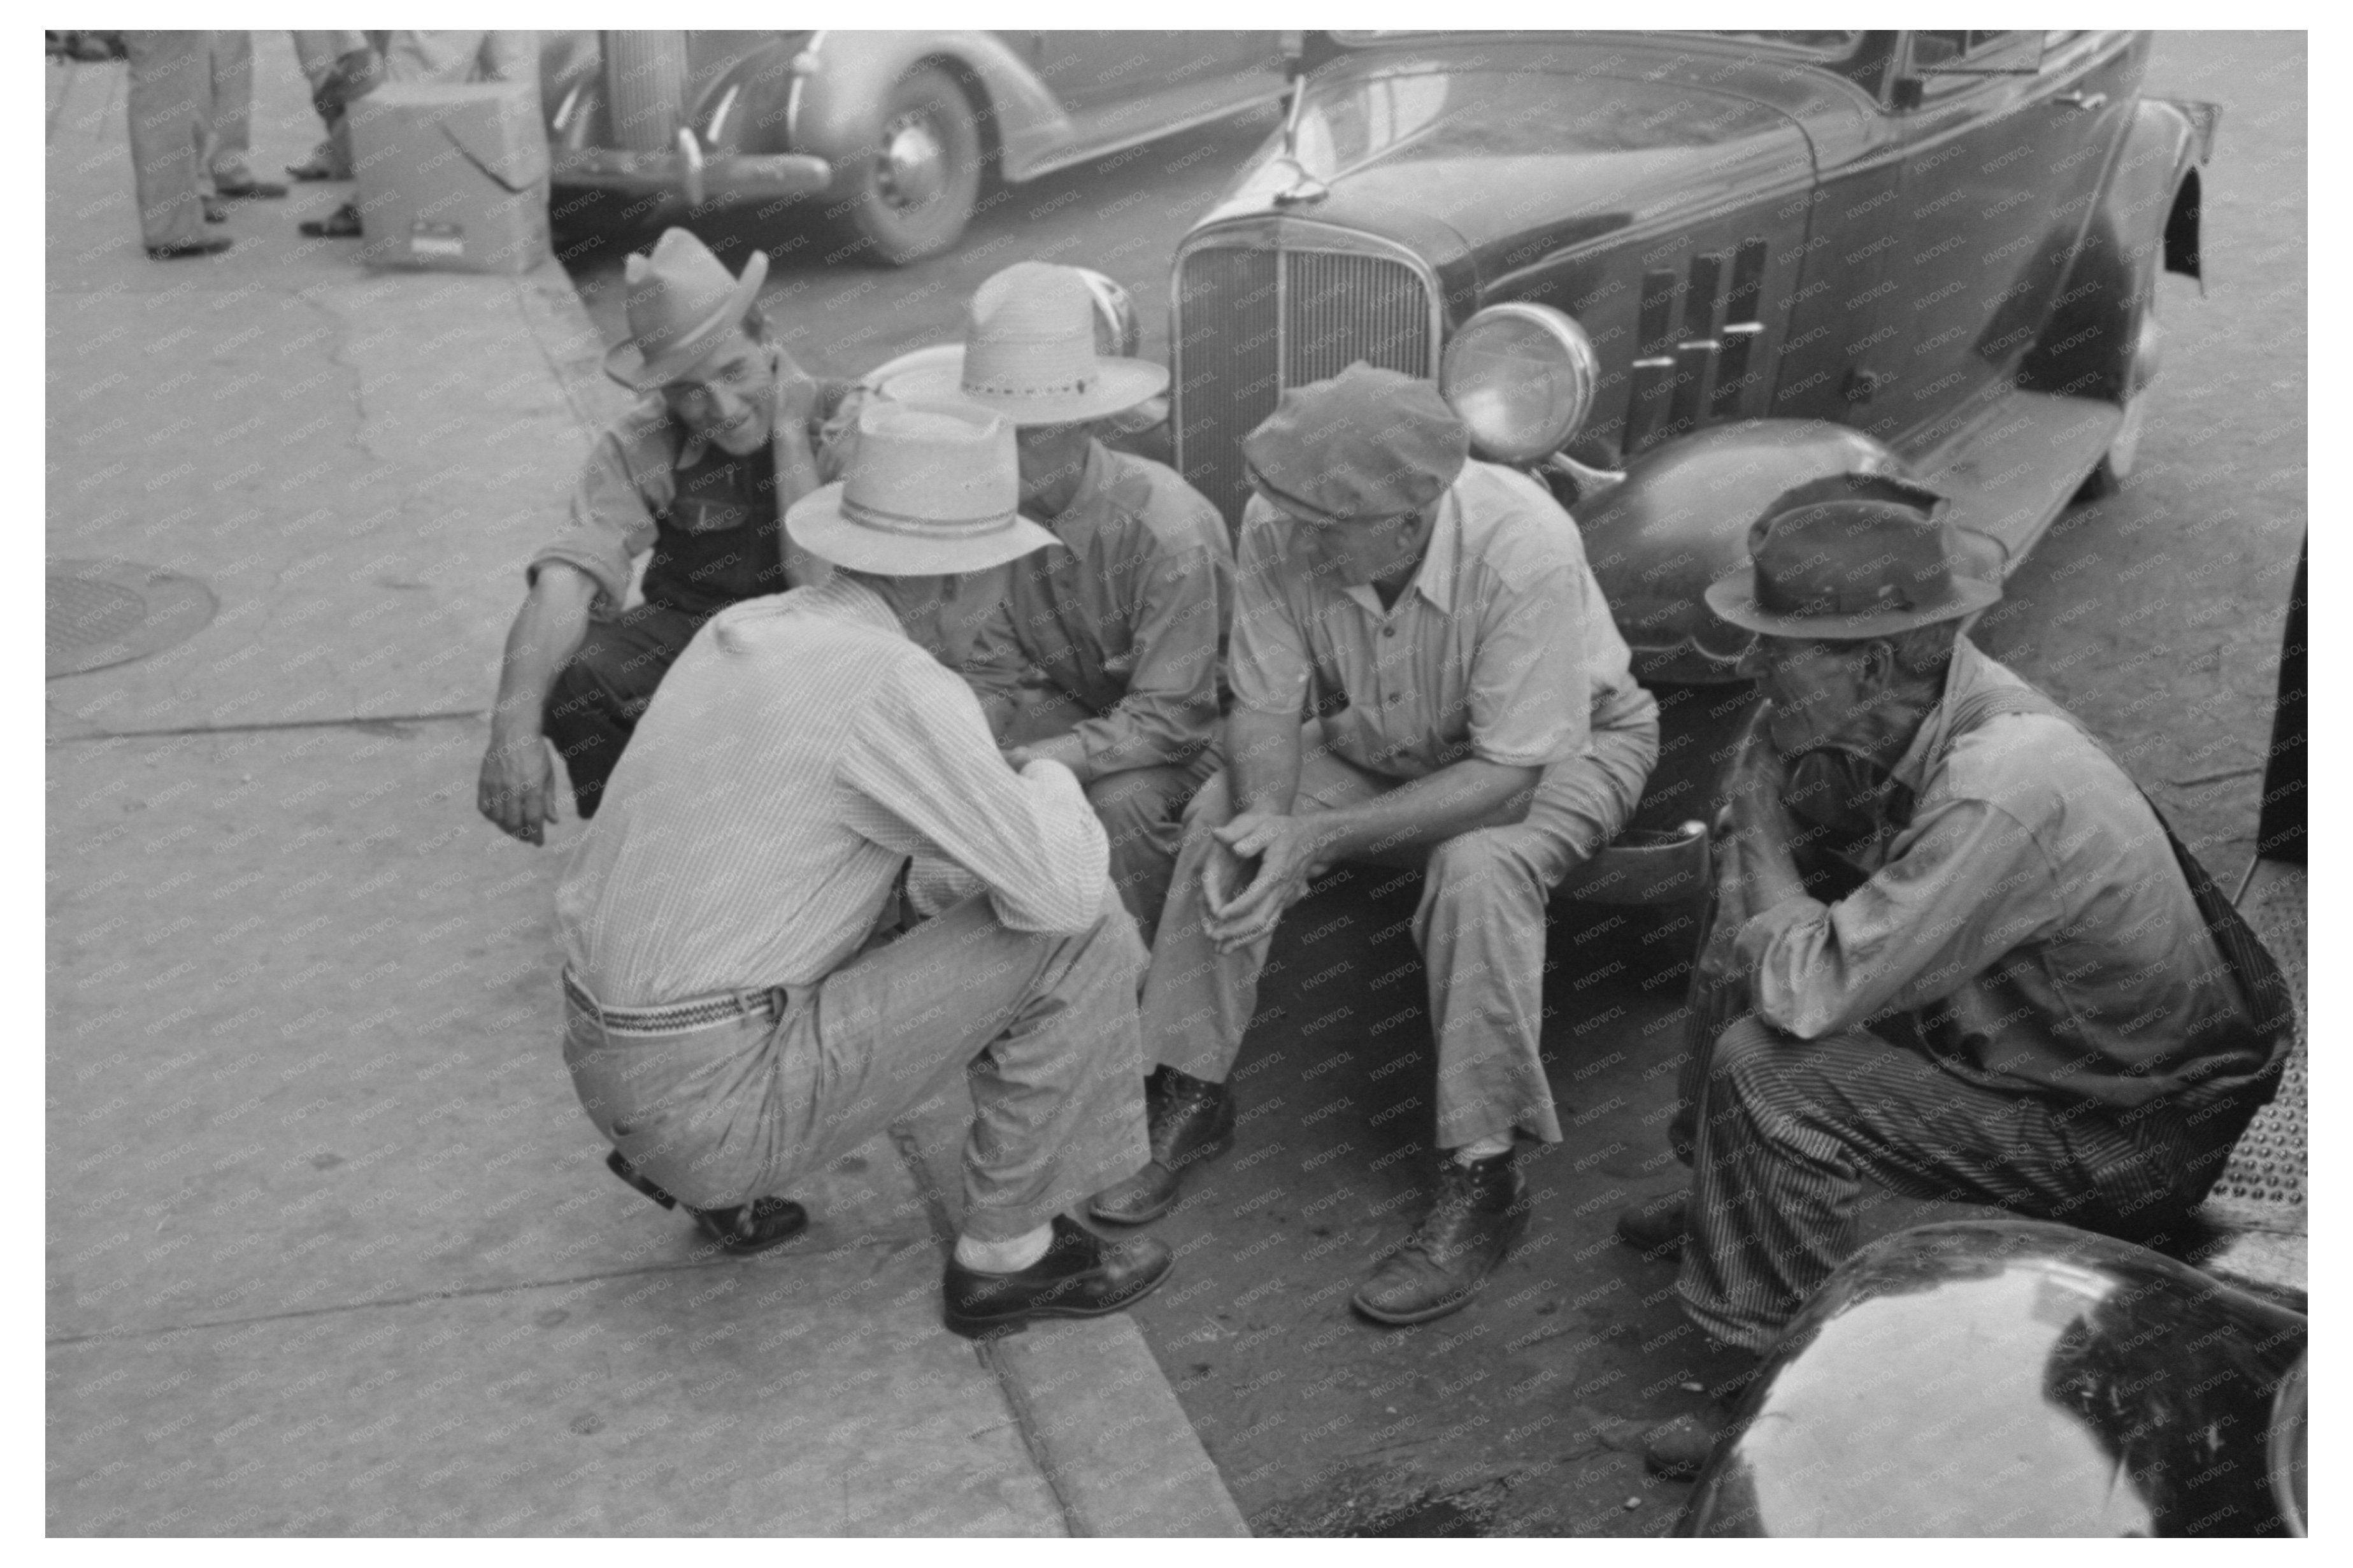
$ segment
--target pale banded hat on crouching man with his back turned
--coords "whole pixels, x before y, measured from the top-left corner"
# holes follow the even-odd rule
[[[849,473],[784,513],[812,556],[880,577],[986,572],[1054,534],[1024,518],[1014,426],[969,403],[868,403]]]

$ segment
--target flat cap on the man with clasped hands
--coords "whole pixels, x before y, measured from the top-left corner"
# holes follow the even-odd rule
[[[1282,393],[1242,438],[1249,483],[1285,511],[1327,523],[1428,506],[1471,459],[1471,431],[1431,381],[1358,360]]]

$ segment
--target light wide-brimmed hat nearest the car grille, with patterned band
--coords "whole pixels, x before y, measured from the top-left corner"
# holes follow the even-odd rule
[[[1111,419],[1158,398],[1165,365],[1101,353],[1094,292],[1075,266],[1014,261],[972,292],[965,344],[878,381],[894,403],[965,398],[1014,424]],[[929,356],[927,356],[929,358]]]

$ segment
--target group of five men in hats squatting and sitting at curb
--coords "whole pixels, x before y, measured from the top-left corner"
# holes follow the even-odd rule
[[[1468,1304],[1529,1224],[1518,1147],[1562,1137],[1546,899],[1659,746],[1577,525],[1431,384],[1353,365],[1242,443],[1235,553],[1099,438],[1167,374],[1099,351],[1078,271],[1005,268],[953,367],[880,388],[793,365],[762,275],[685,231],[631,259],[607,370],[645,398],[532,560],[482,760],[508,833],[555,822],[551,744],[588,819],[565,1059],[614,1172],[760,1250],[805,1227],[795,1184],[967,1081],[948,1328],[1118,1311],[1172,1255],[1073,1215],[1176,1205],[1235,1142],[1285,909],[1400,866],[1435,1158],[1353,1307]],[[1958,636],[1998,589],[1939,513],[1904,480],[1791,492],[1711,591],[1767,702],[1671,1128],[1689,1191],[1621,1234],[1682,1250],[1734,1351],[1854,1250],[1866,1182],[2162,1229],[2285,1050],[2153,808]]]

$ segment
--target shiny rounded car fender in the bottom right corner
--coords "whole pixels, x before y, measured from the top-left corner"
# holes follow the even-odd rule
[[[2308,1318],[2064,1224],[1969,1220],[1838,1267],[1678,1535],[2304,1535]]]

